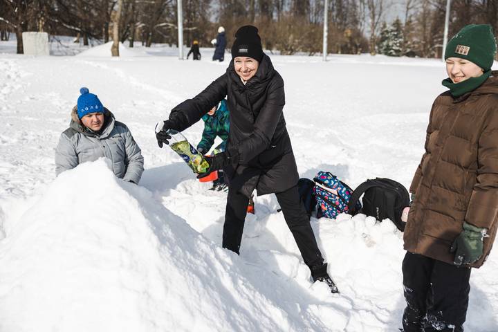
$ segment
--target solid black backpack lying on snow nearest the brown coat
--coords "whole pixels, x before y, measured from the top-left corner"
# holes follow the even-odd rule
[[[363,208],[355,210],[355,204],[363,195]],[[406,188],[390,178],[375,178],[367,180],[356,188],[349,200],[350,214],[362,212],[367,216],[374,216],[378,221],[391,219],[396,228],[403,232],[405,222],[401,221],[403,209],[409,205],[409,194]]]

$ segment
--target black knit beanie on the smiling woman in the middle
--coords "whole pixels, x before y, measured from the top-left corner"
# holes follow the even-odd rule
[[[261,38],[257,34],[255,26],[242,26],[235,33],[235,41],[232,46],[232,58],[235,57],[252,57],[261,62],[263,59],[263,48],[261,47]]]

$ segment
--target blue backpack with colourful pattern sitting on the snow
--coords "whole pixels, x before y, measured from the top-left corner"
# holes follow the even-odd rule
[[[317,218],[337,218],[340,213],[349,213],[348,203],[353,190],[346,183],[340,181],[331,172],[318,172],[313,178],[315,181],[315,198],[318,203]],[[355,210],[361,209],[358,201]]]

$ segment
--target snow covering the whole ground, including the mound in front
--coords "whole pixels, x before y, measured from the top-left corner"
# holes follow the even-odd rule
[[[84,50],[57,45],[54,55]],[[224,73],[230,55],[211,62],[212,51],[201,49],[200,62],[165,46],[27,57],[0,42],[1,332],[397,331],[405,252],[389,221],[311,220],[338,295],[311,283],[273,195],[255,199],[240,257],[221,248],[226,194],[208,191],[154,136],[172,107]],[[443,91],[441,61],[271,58],[302,177],[326,170],[352,187],[376,176],[409,186]],[[138,186],[105,160],[55,178],[55,146],[81,86],[142,148]],[[202,129],[184,133],[197,142]],[[472,271],[466,331],[498,331],[497,251]]]

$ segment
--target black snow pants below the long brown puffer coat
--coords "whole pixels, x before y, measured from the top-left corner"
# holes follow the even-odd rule
[[[470,268],[407,252],[403,259],[407,306],[404,332],[462,332],[470,291]]]

